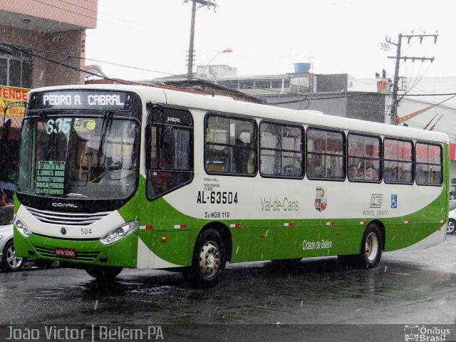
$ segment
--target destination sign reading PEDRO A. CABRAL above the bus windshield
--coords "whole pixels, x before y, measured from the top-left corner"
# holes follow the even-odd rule
[[[130,93],[112,90],[63,90],[33,94],[31,110],[130,110]]]

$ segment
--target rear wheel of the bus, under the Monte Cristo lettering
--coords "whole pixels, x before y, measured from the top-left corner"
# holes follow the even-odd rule
[[[363,269],[374,269],[380,262],[383,249],[383,236],[378,225],[371,223],[366,227],[361,242],[360,266]]]

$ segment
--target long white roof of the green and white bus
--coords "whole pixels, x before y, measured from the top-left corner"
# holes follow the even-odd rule
[[[145,103],[165,103],[168,105],[179,106],[182,106],[182,103],[185,103],[186,107],[198,110],[211,110],[220,113],[247,115],[252,118],[263,118],[269,120],[283,120],[303,125],[317,125],[326,128],[334,128],[336,130],[351,130],[415,140],[430,140],[449,143],[448,136],[445,133],[440,132],[387,125],[384,123],[373,123],[366,120],[343,118],[337,115],[322,114],[316,112],[315,110],[294,110],[274,107],[271,105],[247,103],[239,100],[232,100],[231,98],[220,98],[218,96],[199,95],[147,86],[114,84],[52,86],[46,88],[35,88],[31,90],[28,96],[40,91],[69,89],[126,90],[140,95]],[[145,103],[142,105],[145,105]]]

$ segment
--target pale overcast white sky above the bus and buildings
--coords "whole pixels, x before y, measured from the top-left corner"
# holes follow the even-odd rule
[[[187,73],[191,2],[98,0],[97,28],[87,30],[86,64],[111,78],[146,80]],[[385,37],[434,34],[402,40],[401,56],[435,61],[401,62],[406,77],[456,76],[455,16],[445,0],[212,0],[199,8],[195,66],[225,64],[237,76],[294,72],[311,63],[313,73],[393,77],[396,46]],[[220,53],[231,48],[232,53]],[[193,69],[196,72],[196,67]]]

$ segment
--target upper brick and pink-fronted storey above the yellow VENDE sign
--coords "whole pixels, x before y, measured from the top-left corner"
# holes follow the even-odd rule
[[[0,2],[0,85],[21,88],[83,83],[86,29],[98,1]]]

